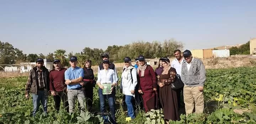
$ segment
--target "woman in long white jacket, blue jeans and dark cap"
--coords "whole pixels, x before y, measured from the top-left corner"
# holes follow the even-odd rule
[[[135,98],[135,87],[137,85],[137,69],[132,66],[130,57],[124,58],[124,71],[122,73],[122,91],[125,95],[128,116],[135,118],[132,101]]]

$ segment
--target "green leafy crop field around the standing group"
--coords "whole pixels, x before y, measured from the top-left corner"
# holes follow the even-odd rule
[[[120,76],[120,74],[119,74]],[[48,115],[42,114],[42,107],[32,117],[32,99],[25,98],[27,77],[0,79],[0,124],[97,124],[102,123],[99,115],[86,112],[80,114],[78,107],[74,114],[54,110],[53,97],[48,98]],[[231,124],[256,123],[256,67],[229,69],[207,69],[204,87],[205,110],[203,114],[181,114],[180,121],[170,124]],[[116,107],[118,124],[128,124],[126,110],[120,105],[122,95],[117,87]],[[94,89],[94,110],[99,111],[97,89]],[[62,106],[61,106],[62,107]],[[108,108],[107,108],[108,109]],[[238,114],[239,113],[239,114]],[[164,124],[161,110],[145,114],[137,111],[137,117],[130,124]]]

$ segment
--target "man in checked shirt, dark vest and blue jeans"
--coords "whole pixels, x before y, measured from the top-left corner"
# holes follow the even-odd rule
[[[36,61],[37,66],[30,70],[25,89],[25,97],[27,99],[29,98],[29,93],[31,92],[32,94],[33,116],[36,115],[36,112],[41,104],[43,105],[44,113],[47,114],[49,71],[43,66],[43,64],[43,59],[38,58]]]

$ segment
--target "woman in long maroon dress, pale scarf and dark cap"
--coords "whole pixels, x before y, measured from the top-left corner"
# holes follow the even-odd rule
[[[138,92],[142,94],[145,112],[148,112],[150,109],[156,109],[158,105],[156,75],[154,69],[146,64],[144,56],[140,55],[138,60],[139,67],[137,72],[140,80]]]

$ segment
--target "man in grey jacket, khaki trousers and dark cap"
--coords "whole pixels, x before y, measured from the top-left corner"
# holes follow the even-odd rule
[[[196,113],[203,113],[204,96],[203,86],[206,81],[206,70],[203,62],[198,58],[192,57],[189,50],[183,52],[185,62],[181,67],[181,80],[183,81],[183,96],[186,115],[193,112],[194,106]]]

